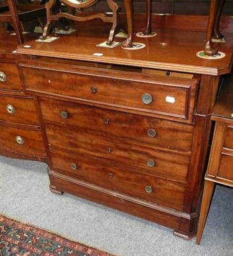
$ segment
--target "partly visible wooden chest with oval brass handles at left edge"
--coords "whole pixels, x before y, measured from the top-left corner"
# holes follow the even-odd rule
[[[7,37],[7,33],[4,33]],[[16,47],[13,42],[1,42],[0,154],[19,159],[46,161],[45,145],[34,100],[22,90],[17,69],[19,55],[12,53]]]

